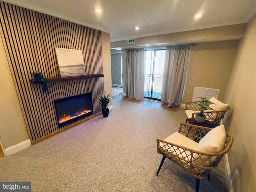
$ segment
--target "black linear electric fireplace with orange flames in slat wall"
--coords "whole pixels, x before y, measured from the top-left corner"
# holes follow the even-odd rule
[[[59,127],[93,114],[92,92],[58,99],[54,104]]]

